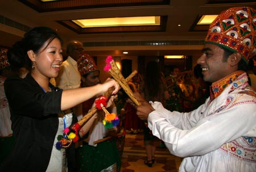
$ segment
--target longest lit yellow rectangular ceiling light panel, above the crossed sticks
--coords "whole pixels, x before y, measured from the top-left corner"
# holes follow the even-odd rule
[[[72,20],[82,28],[111,26],[160,26],[160,16]]]

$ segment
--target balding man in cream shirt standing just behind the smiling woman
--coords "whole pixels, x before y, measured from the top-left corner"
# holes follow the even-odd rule
[[[81,85],[81,75],[77,69],[77,59],[84,50],[80,41],[72,40],[67,44],[68,58],[60,66],[59,75],[55,77],[55,84],[63,90],[76,89]],[[82,104],[72,107],[72,112],[80,120],[82,117]]]

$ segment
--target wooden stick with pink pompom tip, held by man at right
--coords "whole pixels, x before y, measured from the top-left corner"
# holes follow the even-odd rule
[[[105,71],[108,71],[110,75],[119,83],[125,93],[130,97],[130,99],[137,105],[141,105],[141,103],[135,98],[133,91],[131,91],[126,79],[123,77],[121,71],[118,69],[115,61],[112,59],[112,56],[108,56],[106,58],[106,66],[104,68]]]

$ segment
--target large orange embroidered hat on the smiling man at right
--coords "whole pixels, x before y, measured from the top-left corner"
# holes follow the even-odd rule
[[[233,52],[240,52],[243,60],[256,54],[256,10],[233,7],[222,11],[210,24],[205,43],[217,44]]]

